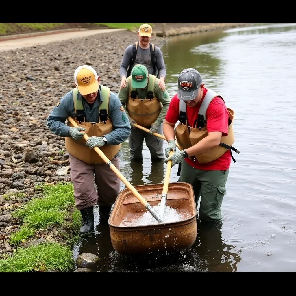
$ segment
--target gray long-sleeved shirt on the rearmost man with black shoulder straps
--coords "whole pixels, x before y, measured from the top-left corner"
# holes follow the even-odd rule
[[[124,52],[124,55],[119,67],[120,78],[122,78],[122,76],[126,77],[127,69],[130,64],[132,55],[133,55],[133,44],[129,45]],[[155,45],[155,58],[156,58],[155,64],[158,70],[159,77],[163,76],[165,78],[166,69],[165,69],[165,62],[163,60],[163,53],[161,52],[160,48],[156,45]],[[135,60],[135,63],[132,65],[132,67],[137,64],[144,65],[147,68],[149,74],[152,74],[152,75],[157,74],[154,72],[154,69],[152,67],[151,54],[150,54],[149,47],[147,49],[143,49],[138,44],[136,60]]]

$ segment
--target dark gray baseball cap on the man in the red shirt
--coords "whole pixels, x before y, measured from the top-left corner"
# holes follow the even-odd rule
[[[195,99],[201,84],[202,78],[197,70],[193,68],[183,70],[178,76],[178,99],[183,101]]]

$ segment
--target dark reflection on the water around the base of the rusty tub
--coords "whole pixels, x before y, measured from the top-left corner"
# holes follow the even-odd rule
[[[95,212],[96,213],[96,212]],[[98,216],[95,217],[98,221]],[[240,250],[236,251],[231,243],[223,242],[220,224],[198,222],[197,239],[191,248],[166,252],[160,250],[154,253],[139,255],[122,255],[116,252],[111,244],[109,226],[96,223],[96,233],[87,241],[82,241],[79,253],[90,252],[100,257],[96,266],[90,266],[93,271],[101,272],[198,272],[198,271],[237,271],[240,262]]]

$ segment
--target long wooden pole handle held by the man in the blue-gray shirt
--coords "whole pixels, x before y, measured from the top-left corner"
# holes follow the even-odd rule
[[[69,116],[67,119],[70,121],[70,123],[73,126],[78,127],[77,123],[74,121],[74,119],[72,117]],[[89,136],[85,133],[83,135],[83,138],[87,141],[89,139]],[[123,182],[123,184],[126,185],[126,187],[128,189],[130,189],[131,192],[133,192],[133,194],[141,202],[141,204],[144,205],[144,207],[149,205],[148,202],[146,200],[144,200],[144,198],[141,196],[141,194],[139,194],[139,192],[136,191],[136,189],[131,185],[131,183],[120,173],[120,171],[109,160],[109,158],[106,155],[104,155],[104,153],[101,151],[101,149],[99,149],[99,147],[97,147],[97,146],[94,147],[93,149],[96,151],[96,153],[99,154],[100,157],[102,157],[104,162],[111,168],[111,170],[118,176],[118,178],[120,178],[120,180]]]

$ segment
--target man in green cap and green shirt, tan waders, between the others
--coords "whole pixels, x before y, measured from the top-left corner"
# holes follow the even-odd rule
[[[153,135],[163,135],[162,124],[170,104],[170,96],[158,85],[159,79],[148,74],[144,65],[135,65],[127,78],[125,88],[121,88],[118,98],[131,123],[131,135],[128,138],[130,156],[134,160],[142,159],[143,141],[150,150],[151,159],[165,159],[163,139]],[[143,131],[134,123],[149,129]]]

